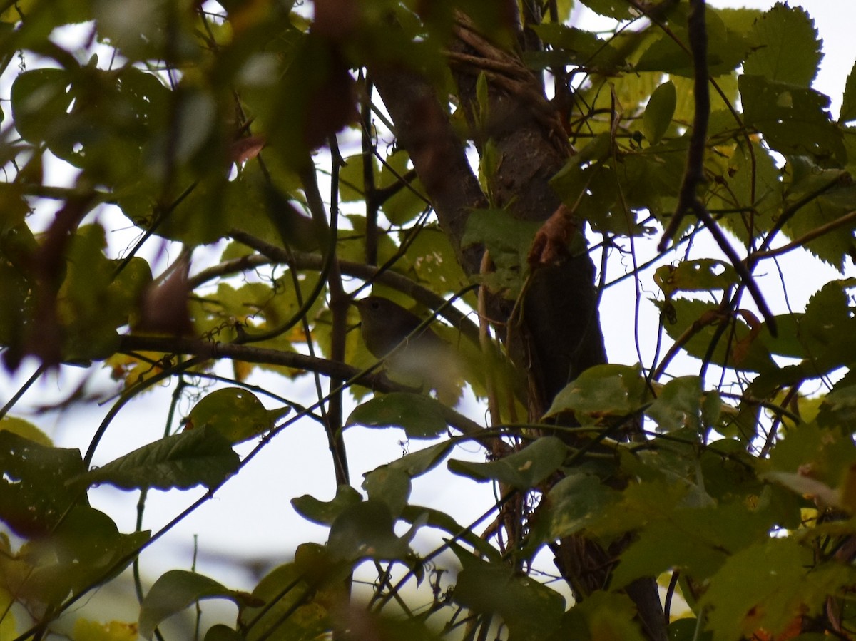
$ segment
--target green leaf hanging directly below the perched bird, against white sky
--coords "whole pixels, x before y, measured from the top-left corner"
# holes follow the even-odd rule
[[[354,408],[345,422],[366,427],[401,427],[408,438],[437,438],[448,431],[443,404],[430,396],[392,392]]]

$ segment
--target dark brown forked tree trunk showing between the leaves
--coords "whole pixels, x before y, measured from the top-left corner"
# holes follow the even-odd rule
[[[491,195],[496,202],[491,205],[507,206],[521,220],[545,222],[562,205],[549,181],[572,153],[557,112],[544,97],[538,78],[517,56],[482,38],[465,16],[460,16],[456,33],[449,62],[461,108],[473,128],[479,73],[484,72],[488,80],[487,131],[501,158],[493,176],[496,188]],[[445,97],[438,96],[424,78],[402,68],[372,68],[370,74],[461,265],[468,275],[478,275],[484,248],[462,248],[461,239],[470,212],[484,208],[487,198],[467,161],[464,142],[455,135],[443,110]],[[479,137],[474,131],[477,145],[484,142]],[[571,221],[563,223],[568,233],[581,234],[581,223],[575,227]],[[527,372],[532,420],[539,420],[556,393],[581,371],[606,362],[594,275],[587,254],[550,253],[550,260],[533,270],[514,318],[514,301],[492,294],[485,297],[490,318],[497,325],[507,324],[509,319],[512,323],[508,348]],[[556,566],[577,598],[609,585],[620,551],[604,550],[581,537],[568,537],[553,550]],[[633,582],[627,594],[639,608],[647,637],[664,641],[663,608],[654,579]]]

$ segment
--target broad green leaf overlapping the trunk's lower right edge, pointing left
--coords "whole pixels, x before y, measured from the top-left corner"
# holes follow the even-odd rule
[[[595,365],[562,389],[544,418],[574,412],[580,424],[591,425],[604,416],[626,416],[648,399],[639,366]]]

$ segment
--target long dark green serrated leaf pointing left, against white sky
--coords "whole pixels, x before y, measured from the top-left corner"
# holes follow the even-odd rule
[[[83,475],[86,484],[123,490],[212,488],[238,469],[240,459],[222,434],[209,427],[186,430],[135,449]]]

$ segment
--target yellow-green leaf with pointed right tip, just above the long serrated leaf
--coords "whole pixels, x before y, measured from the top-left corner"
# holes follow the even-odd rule
[[[235,444],[272,430],[291,407],[265,409],[258,397],[243,388],[217,389],[193,406],[185,430],[208,427]]]

